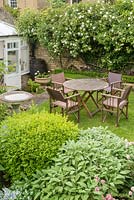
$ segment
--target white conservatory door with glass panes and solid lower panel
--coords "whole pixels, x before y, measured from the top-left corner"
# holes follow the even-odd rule
[[[7,73],[4,82],[7,86],[21,88],[21,66],[20,66],[20,40],[5,42],[5,64]]]

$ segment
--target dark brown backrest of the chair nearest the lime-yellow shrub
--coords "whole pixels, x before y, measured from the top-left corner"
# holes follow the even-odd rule
[[[63,101],[66,102],[66,99],[64,98],[63,94],[61,93],[61,91],[55,90],[53,88],[47,87],[46,88],[49,96],[55,100],[55,101]]]

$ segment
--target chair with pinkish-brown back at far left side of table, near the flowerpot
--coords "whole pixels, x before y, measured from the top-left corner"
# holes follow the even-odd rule
[[[65,78],[64,72],[58,74],[51,75],[52,86],[55,89],[62,90],[64,94],[68,94],[69,92],[73,92],[73,90],[63,87],[63,83],[68,79]]]

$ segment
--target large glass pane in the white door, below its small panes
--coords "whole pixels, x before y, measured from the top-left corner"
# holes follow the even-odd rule
[[[18,72],[18,50],[8,51],[8,72]]]

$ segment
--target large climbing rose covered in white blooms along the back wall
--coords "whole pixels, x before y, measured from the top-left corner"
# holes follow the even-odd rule
[[[37,31],[54,56],[81,57],[96,66],[125,70],[134,64],[134,1],[80,3],[49,9]]]

